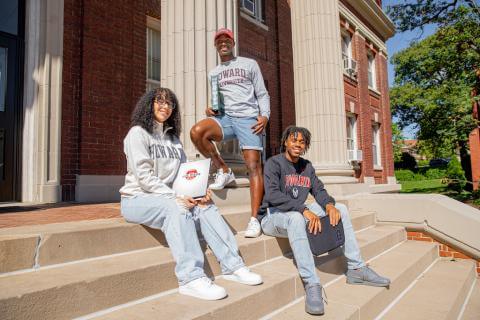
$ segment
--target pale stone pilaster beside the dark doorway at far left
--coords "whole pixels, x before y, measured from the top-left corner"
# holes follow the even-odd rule
[[[59,202],[63,0],[26,2],[22,201]]]

